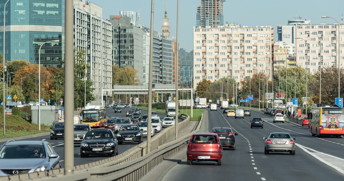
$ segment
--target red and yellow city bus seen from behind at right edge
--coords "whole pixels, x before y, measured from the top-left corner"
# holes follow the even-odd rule
[[[313,104],[307,114],[310,118],[309,132],[312,136],[344,135],[344,111],[336,104]]]

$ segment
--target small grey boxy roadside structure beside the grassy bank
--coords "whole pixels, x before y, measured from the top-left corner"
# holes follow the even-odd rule
[[[41,124],[52,125],[58,121],[58,110],[54,105],[41,106]],[[32,123],[38,124],[38,105],[31,106]]]

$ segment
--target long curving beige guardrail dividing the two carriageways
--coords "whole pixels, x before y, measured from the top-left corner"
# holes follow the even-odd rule
[[[190,122],[190,117],[188,115],[181,114],[181,117],[186,119],[176,124],[178,125],[178,130],[184,128]],[[195,131],[169,143],[165,142],[175,134],[175,128],[171,126],[164,129],[152,138],[151,152],[149,153],[147,153],[146,149],[147,142],[144,141],[136,147],[116,155],[115,157],[75,165],[74,173],[71,175],[63,175],[64,168],[61,168],[44,172],[0,177],[0,180],[139,180],[151,169],[161,163],[163,159],[185,148],[186,145],[184,142],[189,139],[192,133],[197,132],[201,128],[202,120],[203,114]]]

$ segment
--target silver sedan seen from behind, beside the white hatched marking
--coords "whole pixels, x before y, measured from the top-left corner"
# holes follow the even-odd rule
[[[269,152],[295,154],[295,138],[291,138],[289,133],[270,133],[268,137],[263,139],[265,139],[264,154],[269,154]]]

